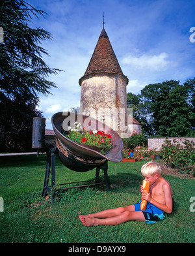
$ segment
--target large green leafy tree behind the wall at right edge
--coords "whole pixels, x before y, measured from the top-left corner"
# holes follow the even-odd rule
[[[153,133],[162,136],[193,136],[194,80],[183,85],[170,80],[149,84],[141,91],[144,109]]]

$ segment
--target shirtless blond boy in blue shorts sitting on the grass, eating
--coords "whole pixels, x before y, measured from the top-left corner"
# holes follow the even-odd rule
[[[126,221],[146,221],[156,223],[164,219],[164,212],[172,212],[172,187],[161,176],[161,166],[155,162],[142,165],[142,175],[150,182],[149,193],[144,191],[142,185],[142,199],[148,201],[145,211],[140,210],[140,202],[125,207],[119,207],[96,214],[80,215],[79,219],[86,227],[98,225],[118,225]]]

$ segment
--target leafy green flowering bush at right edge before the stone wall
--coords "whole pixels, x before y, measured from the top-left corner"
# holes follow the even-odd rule
[[[182,146],[174,140],[173,144],[166,139],[162,144],[161,155],[166,163],[173,168],[179,169],[181,173],[195,174],[195,143],[185,140]]]

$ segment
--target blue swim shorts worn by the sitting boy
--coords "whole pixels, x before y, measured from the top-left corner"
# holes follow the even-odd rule
[[[141,201],[142,200],[140,200],[140,202],[138,202],[137,204],[134,204],[135,211],[141,210],[140,209]],[[142,212],[144,214],[145,221],[148,224],[157,223],[157,221],[161,221],[162,219],[165,218],[164,212],[159,208],[157,208],[156,206],[154,206],[153,204],[151,204],[150,202],[147,203],[146,210]]]

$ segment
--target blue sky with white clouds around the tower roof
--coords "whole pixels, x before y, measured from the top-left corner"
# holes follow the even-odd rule
[[[120,63],[129,78],[127,93],[140,93],[148,84],[195,77],[194,0],[29,0],[32,6],[48,15],[33,18],[31,26],[49,31],[53,40],[42,43],[51,68],[62,69],[49,76],[57,88],[52,95],[39,95],[52,129],[51,116],[79,106],[83,76],[103,27]],[[193,29],[191,29],[193,31]],[[195,28],[194,28],[195,31]]]

